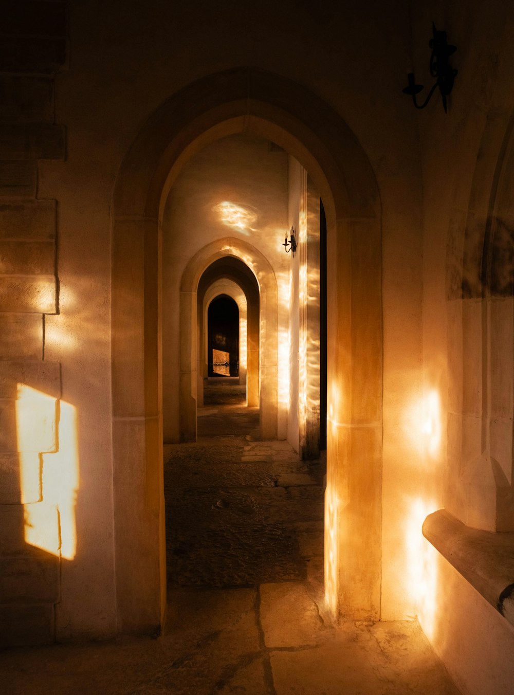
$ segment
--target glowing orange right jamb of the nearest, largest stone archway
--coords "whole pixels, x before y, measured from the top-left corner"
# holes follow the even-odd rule
[[[380,235],[377,220],[338,220],[327,230],[335,281],[327,302],[326,518],[336,528],[326,529],[326,562],[332,550],[338,571],[326,564],[326,575],[342,616],[371,620],[380,617],[381,593]]]

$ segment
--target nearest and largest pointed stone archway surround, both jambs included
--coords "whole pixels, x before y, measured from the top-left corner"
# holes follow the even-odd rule
[[[295,156],[324,202],[329,259],[326,599],[334,611],[355,619],[380,614],[379,192],[362,147],[331,106],[302,85],[244,67],[207,76],[168,99],[135,138],[116,181],[112,355],[120,632],[155,632],[166,607],[159,338],[162,201],[193,152],[244,130],[277,142]],[[257,277],[259,270],[254,268]],[[183,297],[190,306],[191,294]],[[276,293],[273,297],[270,292],[267,301],[276,301]],[[276,364],[265,368],[276,371]],[[276,380],[270,383],[276,388]]]

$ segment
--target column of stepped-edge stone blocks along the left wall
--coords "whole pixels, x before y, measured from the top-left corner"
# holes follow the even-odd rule
[[[63,160],[54,81],[67,60],[67,2],[7,0],[0,26],[0,635],[55,639],[60,511],[43,454],[58,452],[60,364],[44,361],[58,313],[57,202],[38,199],[38,160]],[[55,458],[56,461],[60,460]]]

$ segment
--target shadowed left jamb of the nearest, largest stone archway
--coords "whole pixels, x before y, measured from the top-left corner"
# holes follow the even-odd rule
[[[165,537],[160,394],[159,224],[117,218],[113,227],[113,459],[119,632],[163,623]],[[144,465],[142,465],[144,462]],[[156,601],[156,597],[158,600]]]

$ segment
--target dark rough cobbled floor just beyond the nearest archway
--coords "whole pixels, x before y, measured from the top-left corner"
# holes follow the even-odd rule
[[[307,559],[299,552],[298,525],[317,522],[313,537],[317,534],[322,548],[319,477],[308,473],[287,443],[280,450],[267,446],[265,455],[249,459],[251,435],[244,433],[256,431],[256,409],[230,404],[226,410],[207,407],[206,415],[202,412],[199,433],[206,436],[198,443],[165,447],[169,582],[247,586],[305,578]],[[317,495],[297,498],[279,486],[274,457],[284,453],[297,486],[317,486]]]

